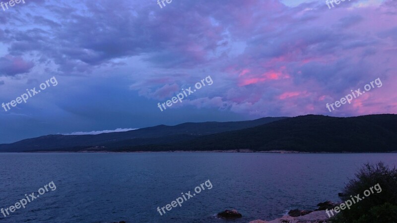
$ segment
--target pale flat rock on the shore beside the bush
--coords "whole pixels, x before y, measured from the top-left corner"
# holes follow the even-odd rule
[[[250,223],[328,223],[328,216],[325,211],[314,211],[305,216],[291,217],[285,215],[273,221],[255,220]]]

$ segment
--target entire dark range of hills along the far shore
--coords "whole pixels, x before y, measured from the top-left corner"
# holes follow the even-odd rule
[[[397,152],[397,114],[302,115],[241,122],[159,125],[99,135],[49,135],[0,145],[0,152],[211,150]]]

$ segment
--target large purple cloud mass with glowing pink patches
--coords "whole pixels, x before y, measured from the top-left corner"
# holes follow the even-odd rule
[[[0,42],[8,55],[1,57],[3,75],[28,72],[32,64],[21,58],[29,58],[42,73],[98,83],[111,76],[106,84],[112,89],[123,80],[120,87],[130,87],[131,94],[117,97],[130,102],[137,96],[139,104],[170,99],[211,75],[217,81],[192,96],[190,108],[262,116],[326,114],[319,98],[336,100],[376,77],[390,86],[396,81],[395,0],[345,1],[332,9],[312,0],[173,1],[163,9],[150,1],[61,2],[29,4],[29,10],[21,8],[25,17],[16,10],[10,18],[0,15]],[[16,60],[19,66],[10,65]],[[103,86],[93,82],[86,88],[97,94]],[[378,111],[396,112],[386,103],[394,99],[386,90],[377,96],[388,99],[377,104]],[[112,104],[110,98],[103,97],[103,104]],[[375,101],[383,100],[369,97],[360,111],[340,110],[375,111],[365,110]],[[68,102],[65,108],[77,103]],[[98,101],[81,103],[89,111]],[[174,108],[187,109],[182,107]]]

